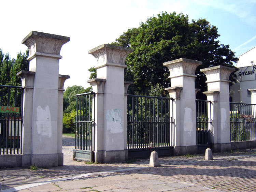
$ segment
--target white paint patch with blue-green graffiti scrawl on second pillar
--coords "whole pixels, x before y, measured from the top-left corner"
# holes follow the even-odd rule
[[[122,133],[124,131],[121,109],[107,110],[106,120],[107,130],[110,130],[111,133]]]

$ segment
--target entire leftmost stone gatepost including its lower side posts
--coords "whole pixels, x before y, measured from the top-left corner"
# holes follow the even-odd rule
[[[29,72],[18,73],[25,88],[23,146],[31,144],[31,149],[23,148],[26,159],[30,159],[23,165],[63,165],[63,84],[69,76],[58,73],[60,49],[69,40],[66,36],[31,31],[22,41],[29,49]]]

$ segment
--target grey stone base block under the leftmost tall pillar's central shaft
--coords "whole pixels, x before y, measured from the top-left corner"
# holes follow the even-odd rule
[[[58,154],[32,154],[31,165],[38,167],[58,166]]]

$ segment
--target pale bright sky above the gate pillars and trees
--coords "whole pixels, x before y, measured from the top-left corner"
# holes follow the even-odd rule
[[[161,12],[207,19],[218,28],[220,44],[230,45],[239,57],[256,46],[256,0],[3,0],[0,48],[16,58],[24,53],[21,41],[30,31],[69,36],[61,48],[59,74],[70,75],[64,88],[85,88],[96,59],[88,50],[114,42],[130,28]]]

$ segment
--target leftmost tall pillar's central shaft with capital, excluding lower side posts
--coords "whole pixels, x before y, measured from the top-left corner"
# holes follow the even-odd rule
[[[22,44],[29,49],[29,71],[35,72],[32,102],[31,164],[58,166],[58,98],[60,49],[69,37],[31,31]],[[61,102],[61,101],[60,101]]]

